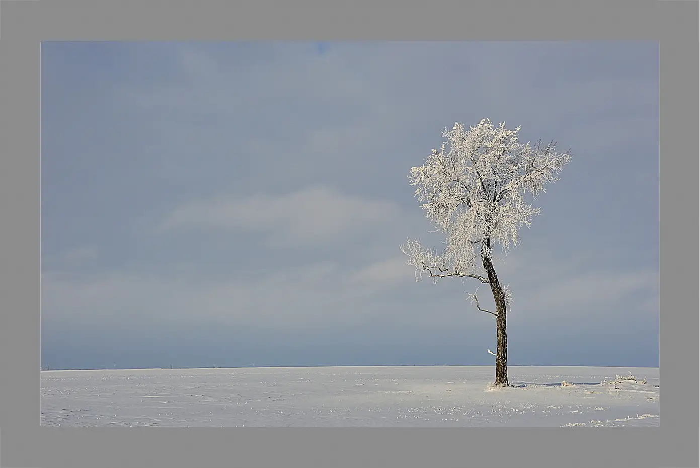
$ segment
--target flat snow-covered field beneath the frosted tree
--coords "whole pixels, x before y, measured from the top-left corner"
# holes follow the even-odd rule
[[[513,388],[491,388],[493,374],[493,366],[41,371],[41,425],[659,426],[658,368],[509,367]],[[601,383],[617,375],[628,378]]]

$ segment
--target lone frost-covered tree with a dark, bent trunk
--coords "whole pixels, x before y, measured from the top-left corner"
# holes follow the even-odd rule
[[[401,246],[409,264],[416,267],[416,279],[429,274],[433,281],[456,276],[472,278],[489,285],[496,311],[479,306],[476,292],[468,293],[479,311],[496,318],[496,385],[507,386],[506,311],[510,292],[496,276],[494,247],[503,253],[519,243],[518,229],[530,227],[540,213],[526,203],[526,195],[537,199],[546,192],[546,183],[571,160],[556,152],[556,142],[531,146],[520,143],[520,127],[509,130],[484,119],[465,129],[456,123],[442,133],[447,139],[440,150],[433,150],[425,164],[411,169],[409,179],[416,186],[421,208],[437,232],[444,233],[440,252],[421,245],[419,240]],[[492,353],[493,354],[493,353]]]

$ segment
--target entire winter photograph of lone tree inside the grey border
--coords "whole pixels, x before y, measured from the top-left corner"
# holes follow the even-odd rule
[[[659,427],[659,45],[43,42],[49,427]]]

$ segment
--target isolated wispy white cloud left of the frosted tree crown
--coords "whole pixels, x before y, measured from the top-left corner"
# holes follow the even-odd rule
[[[274,246],[342,241],[397,222],[397,206],[355,197],[328,187],[308,187],[289,194],[219,197],[176,208],[161,229],[249,230],[267,235]]]

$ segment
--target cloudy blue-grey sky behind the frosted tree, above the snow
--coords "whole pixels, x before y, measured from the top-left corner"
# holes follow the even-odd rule
[[[659,365],[657,43],[51,43],[41,365],[493,365],[407,178],[455,122],[573,160],[496,271],[508,364]],[[485,309],[493,304],[479,292]]]

